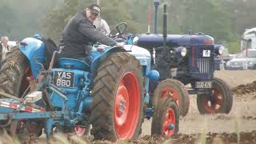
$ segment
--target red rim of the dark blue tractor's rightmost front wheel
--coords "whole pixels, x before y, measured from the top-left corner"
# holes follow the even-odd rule
[[[222,92],[218,89],[213,89],[213,96],[210,99],[207,96],[204,96],[202,99],[202,106],[206,110],[206,113],[216,114],[218,110],[223,106],[223,95]]]

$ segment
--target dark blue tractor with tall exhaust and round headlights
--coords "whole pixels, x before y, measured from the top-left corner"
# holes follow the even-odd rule
[[[167,34],[166,6],[164,9],[163,34],[141,34],[137,46],[149,50],[152,59],[155,57],[154,69],[159,71],[162,85],[170,86],[166,93],[176,100],[179,114],[185,116],[189,110],[188,94],[197,95],[200,114],[230,113],[233,102],[230,86],[214,78],[214,57],[222,54],[222,47],[214,46],[214,38],[202,33]],[[191,87],[173,89],[178,84]],[[150,85],[151,94],[157,85],[158,82]]]

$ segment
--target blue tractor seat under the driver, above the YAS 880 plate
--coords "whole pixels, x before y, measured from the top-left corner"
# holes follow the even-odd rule
[[[59,58],[58,68],[90,71],[90,66],[86,62],[74,58]]]

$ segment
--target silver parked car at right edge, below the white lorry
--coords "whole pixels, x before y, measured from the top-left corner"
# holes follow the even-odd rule
[[[226,63],[227,70],[256,70],[256,50],[244,50]]]

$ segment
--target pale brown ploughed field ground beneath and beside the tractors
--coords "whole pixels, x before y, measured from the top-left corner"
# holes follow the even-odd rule
[[[180,118],[179,134],[169,140],[150,136],[151,120],[142,124],[142,135],[129,143],[256,143],[256,70],[216,71],[215,77],[230,84],[234,104],[230,114],[200,115],[196,96],[190,95],[190,111],[185,118]],[[4,141],[3,141],[4,139]],[[50,143],[111,143],[94,141],[93,137],[55,135]],[[13,141],[5,136],[3,143]],[[30,138],[22,142],[46,143],[45,136]],[[0,142],[1,143],[1,142]],[[118,142],[128,143],[128,142]]]

